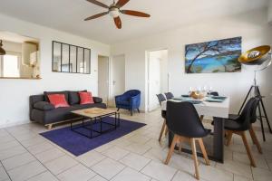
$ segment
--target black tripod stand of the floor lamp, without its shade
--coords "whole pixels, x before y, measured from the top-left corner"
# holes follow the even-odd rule
[[[261,123],[261,129],[262,129],[262,134],[263,134],[263,140],[266,141],[265,130],[264,130],[264,125],[263,125],[263,118],[265,118],[265,119],[267,120],[267,126],[268,126],[268,129],[269,129],[269,132],[270,132],[270,133],[272,133],[272,129],[271,129],[271,127],[270,127],[270,123],[269,123],[269,120],[268,120],[268,117],[267,117],[267,111],[266,111],[266,108],[265,108],[265,106],[264,106],[264,102],[263,102],[263,98],[264,98],[264,97],[260,94],[259,87],[257,86],[257,83],[256,83],[256,71],[255,71],[254,85],[252,85],[252,86],[250,87],[250,89],[248,90],[247,97],[246,97],[246,99],[244,100],[244,102],[243,102],[243,104],[242,104],[240,110],[238,111],[238,115],[240,115],[241,110],[243,109],[243,107],[244,107],[246,101],[248,100],[249,94],[250,94],[250,92],[251,92],[252,90],[254,90],[255,96],[258,97],[258,98],[260,99],[260,101],[259,101],[259,103],[258,103],[258,106],[257,106],[257,108],[258,108],[258,114],[259,114],[259,116],[258,116],[257,119],[259,119],[259,120],[260,120],[260,123]],[[264,114],[265,114],[264,116],[262,116],[262,111],[261,111],[261,110],[263,110],[263,112],[264,112]]]

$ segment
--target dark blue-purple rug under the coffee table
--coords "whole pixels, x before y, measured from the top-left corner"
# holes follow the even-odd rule
[[[103,121],[114,123],[114,118],[107,117],[104,118]],[[146,124],[140,122],[133,122],[130,120],[120,119],[121,125],[115,130],[110,132],[104,133],[101,136],[96,138],[87,138],[83,135],[80,135],[70,127],[66,127],[63,129],[54,129],[51,131],[47,131],[41,133],[44,138],[51,140],[56,145],[60,146],[61,148],[66,149],[74,156],[80,156],[94,148],[98,148],[106,143],[111,142],[116,138],[121,138],[122,136],[130,133],[133,130],[140,129],[141,127],[145,126]],[[108,129],[109,126],[103,124],[103,129]],[[100,128],[100,124],[94,124],[93,129]],[[79,131],[85,131],[85,129],[78,129]],[[84,134],[90,134],[89,132],[85,132]],[[95,134],[93,134],[95,135]]]

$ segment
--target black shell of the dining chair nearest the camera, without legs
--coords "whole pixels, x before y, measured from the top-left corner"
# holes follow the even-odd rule
[[[194,105],[187,101],[167,102],[166,124],[170,131],[187,138],[202,138],[207,135]]]

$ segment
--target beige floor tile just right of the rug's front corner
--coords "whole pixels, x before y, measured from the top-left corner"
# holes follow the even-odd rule
[[[92,167],[93,165],[97,164],[104,158],[106,157],[96,151],[89,151],[79,157],[76,157],[76,159],[86,167]]]

